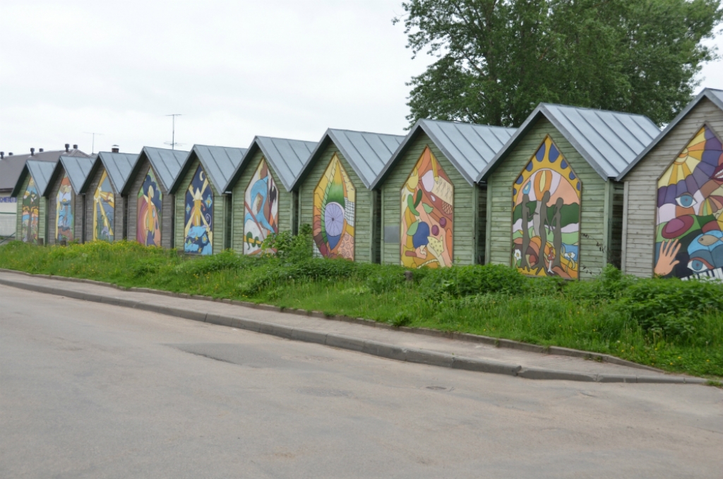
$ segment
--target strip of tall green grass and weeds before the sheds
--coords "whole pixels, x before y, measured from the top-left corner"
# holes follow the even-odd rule
[[[505,266],[414,271],[309,258],[308,236],[279,235],[277,255],[189,258],[134,242],[0,247],[0,267],[285,308],[320,310],[601,352],[665,370],[723,376],[723,284],[531,279]]]

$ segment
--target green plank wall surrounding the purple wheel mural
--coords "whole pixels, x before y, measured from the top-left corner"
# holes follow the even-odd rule
[[[354,212],[354,260],[361,263],[371,263],[373,260],[372,237],[374,235],[372,221],[372,191],[368,190],[364,183],[354,171],[354,168],[344,158],[341,151],[329,142],[316,163],[311,166],[311,171],[299,185],[299,225],[312,224],[314,217],[314,189],[319,179],[329,166],[334,153],[338,154],[339,161],[346,170],[352,185],[356,188],[356,206]]]

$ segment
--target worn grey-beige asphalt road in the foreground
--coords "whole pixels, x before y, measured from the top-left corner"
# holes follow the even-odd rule
[[[1,478],[716,478],[723,391],[399,363],[0,287]]]

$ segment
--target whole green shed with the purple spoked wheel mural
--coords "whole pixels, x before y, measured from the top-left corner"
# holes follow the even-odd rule
[[[372,190],[403,136],[327,130],[301,169],[299,224],[312,226],[314,254],[380,262],[380,192]]]

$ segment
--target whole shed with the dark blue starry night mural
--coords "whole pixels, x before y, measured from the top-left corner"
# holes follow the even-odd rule
[[[175,245],[189,255],[231,247],[231,177],[246,148],[193,145],[169,192],[176,199]]]

